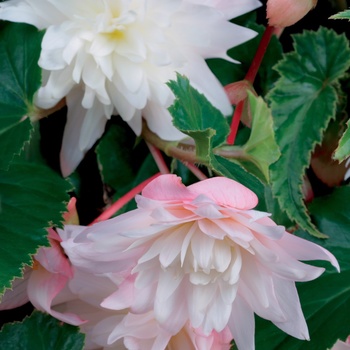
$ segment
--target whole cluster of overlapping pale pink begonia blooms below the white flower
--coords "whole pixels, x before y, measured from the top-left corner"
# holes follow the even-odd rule
[[[254,349],[254,313],[308,339],[295,282],[324,269],[300,260],[339,265],[256,204],[253,192],[224,177],[186,187],[175,175],[159,176],[137,197],[137,209],[58,229],[72,265],[61,271],[74,274],[63,277],[65,289],[51,279],[42,290],[37,278],[30,300],[42,298],[41,309],[80,324],[89,349],[121,342],[128,349],[229,349],[232,337],[239,349]],[[41,257],[48,275],[62,279]]]

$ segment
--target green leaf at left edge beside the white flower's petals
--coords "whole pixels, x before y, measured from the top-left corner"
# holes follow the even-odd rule
[[[41,83],[37,62],[42,36],[28,24],[0,24],[0,169],[30,139],[32,125],[24,116],[34,110],[33,95]]]

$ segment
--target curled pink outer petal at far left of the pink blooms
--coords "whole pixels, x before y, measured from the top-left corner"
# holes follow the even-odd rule
[[[65,287],[68,278],[61,274],[46,271],[40,265],[33,270],[28,282],[28,297],[30,302],[39,310],[46,311],[53,317],[72,324],[81,325],[86,321],[72,313],[60,313],[51,308],[56,295]]]

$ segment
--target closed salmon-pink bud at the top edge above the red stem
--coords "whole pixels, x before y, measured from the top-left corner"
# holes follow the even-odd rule
[[[288,27],[301,20],[317,4],[317,0],[268,0],[266,17],[269,25]]]

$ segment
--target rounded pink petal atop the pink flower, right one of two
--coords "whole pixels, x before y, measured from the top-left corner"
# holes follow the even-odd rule
[[[205,194],[214,202],[231,208],[248,210],[258,204],[258,197],[247,187],[226,177],[212,177],[188,186],[192,193]]]

